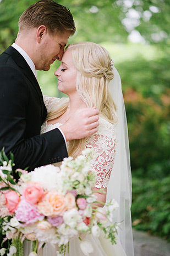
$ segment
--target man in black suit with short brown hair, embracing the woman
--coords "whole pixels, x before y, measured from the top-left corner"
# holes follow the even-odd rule
[[[40,135],[47,116],[36,70],[48,71],[75,26],[70,11],[53,0],[30,6],[19,19],[15,44],[0,55],[0,150],[12,151],[16,168],[37,166],[67,157],[65,142],[97,131],[98,111],[79,109],[61,127]]]

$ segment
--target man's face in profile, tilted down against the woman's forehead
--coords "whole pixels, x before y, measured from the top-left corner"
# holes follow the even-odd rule
[[[61,60],[65,45],[67,45],[69,31],[65,31],[62,35],[46,34],[40,48],[40,60],[37,62],[36,69],[48,71],[50,65],[57,60]]]

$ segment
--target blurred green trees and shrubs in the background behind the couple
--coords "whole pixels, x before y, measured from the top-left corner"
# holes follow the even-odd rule
[[[0,52],[18,33],[18,18],[33,0],[0,0]],[[170,237],[168,0],[58,0],[73,13],[69,39],[100,43],[122,78],[133,176],[133,226]],[[135,38],[131,37],[135,33]],[[137,40],[139,38],[140,40]],[[129,41],[139,41],[131,43]],[[134,40],[135,39],[135,40]],[[59,62],[37,76],[43,94],[63,96],[53,75]]]

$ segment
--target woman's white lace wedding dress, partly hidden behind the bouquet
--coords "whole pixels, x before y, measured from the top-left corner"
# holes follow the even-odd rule
[[[45,105],[47,111],[52,111],[62,105],[64,102],[69,101],[69,98],[54,98],[44,96]],[[103,118],[99,118],[100,125],[98,126],[97,133],[87,137],[86,148],[94,148],[97,158],[92,160],[91,170],[97,172],[97,182],[95,187],[100,189],[108,186],[109,177],[114,164],[114,157],[116,155],[116,131],[113,124],[109,123]],[[41,133],[49,132],[61,126],[61,123],[48,124],[47,122],[42,124]],[[67,143],[68,147],[68,143]],[[59,165],[54,164],[54,165]],[[94,252],[89,256],[126,256],[122,245],[117,238],[117,244],[112,245],[107,239],[104,238],[104,234],[101,233],[99,238],[95,238],[92,234],[85,237],[89,240],[94,248]],[[57,247],[52,247],[51,244],[46,244],[45,247],[39,250],[38,256],[56,256]],[[24,242],[24,256],[28,256],[31,252],[31,242]],[[68,256],[84,256],[84,253],[80,249],[80,240],[78,238],[70,241]]]

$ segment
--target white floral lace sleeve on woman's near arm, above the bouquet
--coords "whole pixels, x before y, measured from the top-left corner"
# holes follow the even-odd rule
[[[98,132],[86,140],[86,148],[94,148],[97,158],[91,161],[91,169],[97,172],[95,187],[101,189],[108,186],[116,154],[116,131],[113,124],[99,119]]]

